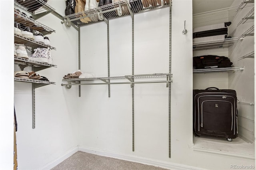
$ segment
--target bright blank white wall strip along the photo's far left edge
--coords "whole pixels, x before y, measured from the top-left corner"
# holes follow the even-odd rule
[[[13,137],[14,137],[14,109],[13,109],[13,2],[0,1],[0,169],[13,168]],[[8,17],[10,16],[10,17]],[[12,17],[11,17],[12,16]]]

